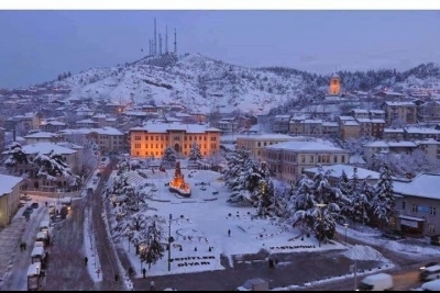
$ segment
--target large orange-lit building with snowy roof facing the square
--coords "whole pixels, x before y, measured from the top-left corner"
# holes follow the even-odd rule
[[[188,156],[197,142],[201,155],[210,156],[220,149],[220,129],[200,124],[146,124],[129,131],[130,155],[160,158],[172,146],[177,154]]]

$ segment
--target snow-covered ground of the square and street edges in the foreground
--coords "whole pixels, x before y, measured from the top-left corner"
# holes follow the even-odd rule
[[[272,253],[300,253],[302,251],[340,249],[344,256],[353,259],[353,263],[355,260],[377,260],[385,264],[382,266],[383,269],[389,269],[394,266],[377,250],[367,245],[345,246],[343,241],[345,233],[350,238],[362,239],[366,244],[382,245],[395,251],[405,252],[415,259],[420,258],[420,256],[440,255],[440,249],[437,247],[421,248],[417,245],[417,241],[414,244],[403,244],[402,241],[387,240],[380,237],[380,232],[367,227],[362,227],[362,229],[360,227],[356,227],[356,229],[349,227],[345,230],[344,226],[338,226],[337,230],[341,236],[339,239],[342,239],[342,241],[333,245],[320,244],[314,236],[305,236],[302,237],[304,240],[301,240],[301,233],[298,229],[290,228],[273,218],[253,218],[252,214],[255,211],[252,207],[237,207],[228,204],[226,201],[229,193],[223,185],[220,173],[209,170],[188,169],[183,169],[183,173],[193,189],[191,198],[189,199],[177,198],[165,187],[165,183],[170,181],[174,170],[167,170],[166,172],[157,170],[155,172],[152,172],[152,170],[148,171],[146,180],[153,182],[156,187],[152,188],[155,191],[152,191],[153,200],[150,202],[150,206],[157,209],[156,213],[167,219],[165,232],[168,233],[168,228],[170,228],[170,235],[175,238],[169,255],[173,261],[168,270],[168,251],[165,251],[164,258],[148,268],[147,264],[141,263],[139,257],[135,255],[134,246],[130,245],[127,239],[123,239],[120,245],[122,245],[129,256],[132,268],[136,272],[135,278],[142,278],[142,273],[140,272],[144,267],[147,268],[147,275],[223,270],[224,268],[220,264],[219,258],[221,253],[231,259],[234,255],[256,253],[261,249],[266,249]],[[88,188],[96,188],[96,183],[91,182],[95,176],[90,177]],[[201,185],[201,182],[206,184]],[[34,212],[31,215],[31,221],[43,221],[44,217],[40,215],[38,211],[42,211],[45,202],[54,201],[54,199],[30,195],[32,198],[30,203],[40,203],[36,213]],[[57,201],[54,201],[54,203],[57,203]],[[11,278],[12,262],[15,258],[14,253],[18,251],[16,244],[23,238],[22,232],[25,222],[21,215],[22,209],[19,210],[12,224],[0,232],[0,259],[2,260],[0,262],[0,288],[2,288],[3,280]],[[86,213],[84,225],[88,227],[90,226],[90,214],[88,210],[86,210]],[[169,215],[172,215],[172,222],[168,221]],[[37,224],[35,223],[35,225]],[[113,224],[111,221],[109,226],[111,227]],[[231,232],[230,236],[228,234],[229,230]],[[31,240],[33,236],[24,236],[30,238],[24,238],[24,240]],[[89,259],[90,278],[95,282],[100,282],[102,281],[102,275],[96,273],[96,268],[100,267],[100,261],[96,253],[98,244],[95,243],[92,228],[85,229],[84,244],[85,255]],[[232,264],[232,261],[230,263]],[[29,264],[24,263],[19,270],[15,268],[14,274],[22,274],[20,280],[25,280]],[[380,269],[376,270],[378,271]],[[359,273],[359,275],[362,274]],[[314,284],[351,277],[352,274],[348,273],[334,279],[317,281]],[[20,280],[16,280],[15,282],[19,283]],[[131,282],[129,280],[125,280],[125,288],[130,289],[132,286]],[[273,290],[280,291],[294,288],[297,286]],[[21,290],[22,286],[16,289]]]

